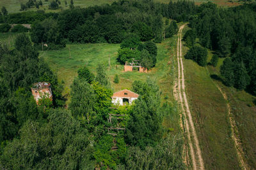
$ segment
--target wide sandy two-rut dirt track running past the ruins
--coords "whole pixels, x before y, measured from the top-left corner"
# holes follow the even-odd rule
[[[178,82],[175,82],[175,88],[173,89],[174,96],[179,101],[182,115],[180,117],[184,118],[184,132],[188,137],[189,153],[191,155],[191,162],[193,169],[204,169],[204,160],[202,159],[202,154],[196,135],[195,125],[193,123],[193,118],[189,110],[188,99],[186,96],[186,86],[184,78],[184,66],[182,62],[182,29],[186,24],[182,25],[178,33],[177,42],[177,62],[178,62]],[[180,120],[181,121],[181,120]],[[181,123],[182,124],[182,123]],[[181,125],[182,127],[182,125]]]

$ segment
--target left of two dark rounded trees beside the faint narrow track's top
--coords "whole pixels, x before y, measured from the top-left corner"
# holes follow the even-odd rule
[[[229,58],[223,60],[223,64],[220,67],[221,76],[223,76],[223,81],[227,86],[234,85],[234,63]]]

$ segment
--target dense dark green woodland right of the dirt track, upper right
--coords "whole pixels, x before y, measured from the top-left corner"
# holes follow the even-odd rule
[[[214,50],[218,57],[227,57],[221,66],[224,83],[253,94],[256,94],[255,6],[252,3],[223,9],[205,3],[189,21],[200,45]]]

